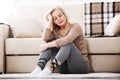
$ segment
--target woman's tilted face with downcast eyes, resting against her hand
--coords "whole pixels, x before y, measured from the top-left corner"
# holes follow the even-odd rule
[[[52,13],[53,21],[58,26],[64,26],[66,24],[66,17],[60,10],[55,10]]]

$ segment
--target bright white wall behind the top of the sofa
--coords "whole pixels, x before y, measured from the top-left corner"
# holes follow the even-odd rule
[[[113,2],[120,0],[0,0],[0,22],[5,22],[6,17],[12,17],[15,8],[20,5],[83,4],[101,1]]]

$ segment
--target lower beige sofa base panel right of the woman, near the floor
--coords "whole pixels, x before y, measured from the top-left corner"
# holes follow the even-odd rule
[[[93,72],[120,72],[120,55],[90,55]]]

